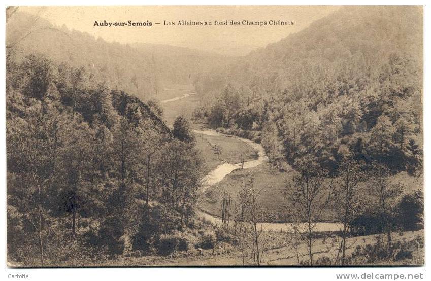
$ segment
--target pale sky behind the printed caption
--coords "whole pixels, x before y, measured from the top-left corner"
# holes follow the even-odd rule
[[[245,55],[298,32],[339,6],[32,6],[22,12],[38,14],[52,24],[119,43],[155,43],[228,55]],[[98,27],[103,22],[151,21],[151,27]],[[175,22],[164,26],[163,20]],[[212,26],[178,26],[178,21],[211,21]],[[293,25],[214,26],[214,21],[293,21]],[[154,24],[160,22],[160,25]]]

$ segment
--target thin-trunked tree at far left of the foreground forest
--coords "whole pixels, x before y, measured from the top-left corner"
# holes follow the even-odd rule
[[[50,127],[51,116],[47,113],[33,111],[28,116],[28,126],[25,134],[21,134],[19,127],[9,127],[11,134],[8,138],[9,153],[16,155],[21,172],[20,192],[22,198],[19,200],[19,208],[24,218],[33,227],[37,235],[39,257],[41,266],[45,265],[44,236],[46,236],[50,225],[47,224],[49,204],[48,187],[54,177],[53,170],[56,165],[54,151],[58,144],[50,134],[40,137],[43,128]]]

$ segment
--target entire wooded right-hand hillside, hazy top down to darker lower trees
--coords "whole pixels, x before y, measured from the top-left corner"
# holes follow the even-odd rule
[[[195,117],[261,142],[277,163],[312,155],[334,173],[352,156],[420,172],[422,34],[420,7],[344,7],[198,77]]]

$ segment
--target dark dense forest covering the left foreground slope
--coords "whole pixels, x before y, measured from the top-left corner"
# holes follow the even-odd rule
[[[171,132],[154,100],[42,55],[9,52],[7,69],[10,261],[83,265],[127,245],[163,251],[194,221],[203,160],[186,120]]]

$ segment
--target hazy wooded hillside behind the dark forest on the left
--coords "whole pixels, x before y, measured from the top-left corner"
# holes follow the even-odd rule
[[[198,74],[229,60],[222,55],[174,46],[109,43],[65,26],[53,26],[19,10],[9,16],[7,25],[7,48],[13,47],[17,59],[40,53],[56,63],[82,66],[112,89],[124,90],[142,100],[163,99],[165,87],[191,84]]]

